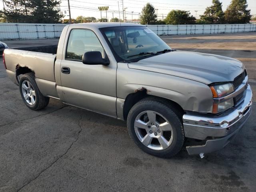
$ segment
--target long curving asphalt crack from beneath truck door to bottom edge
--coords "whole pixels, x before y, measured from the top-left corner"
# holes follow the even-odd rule
[[[45,172],[46,170],[48,170],[49,168],[51,168],[58,160],[60,160],[64,155],[66,155],[68,153],[68,151],[72,148],[73,144],[76,143],[80,137],[80,133],[82,132],[82,126],[80,124],[80,121],[82,120],[82,114],[80,115],[80,119],[78,120],[78,126],[80,127],[80,130],[78,131],[78,134],[76,136],[76,139],[70,144],[70,146],[68,147],[68,149],[66,150],[66,152],[62,155],[60,155],[54,162],[52,162],[48,167],[44,168],[41,172],[39,172],[39,174],[37,174],[36,177],[34,177],[33,179],[29,180],[26,184],[24,184],[22,187],[20,187],[18,190],[16,190],[16,192],[19,192],[20,190],[22,190],[24,187],[26,187],[28,184],[30,184],[32,181],[36,180],[43,172]]]

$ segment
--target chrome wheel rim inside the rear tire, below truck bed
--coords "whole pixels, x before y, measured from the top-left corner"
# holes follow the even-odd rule
[[[22,94],[26,102],[30,105],[34,105],[36,102],[35,90],[30,82],[24,80],[22,82]]]

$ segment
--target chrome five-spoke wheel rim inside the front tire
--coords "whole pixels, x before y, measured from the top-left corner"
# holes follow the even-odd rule
[[[154,111],[138,114],[134,122],[136,136],[148,148],[164,150],[172,144],[173,130],[168,120]]]

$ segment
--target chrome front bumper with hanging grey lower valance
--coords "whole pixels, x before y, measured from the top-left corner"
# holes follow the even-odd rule
[[[200,146],[187,146],[188,154],[210,153],[220,150],[230,142],[233,136],[242,128],[251,114],[252,90],[250,85],[246,89],[246,95],[242,104],[231,108],[220,116],[194,116],[185,114],[183,126],[185,137],[198,140],[206,140]]]

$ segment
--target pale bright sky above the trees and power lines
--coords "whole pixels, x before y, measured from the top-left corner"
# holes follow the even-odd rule
[[[226,10],[231,0],[220,0],[222,2],[222,10]],[[122,3],[123,2],[123,3]],[[120,18],[122,19],[122,9],[126,8],[126,19],[138,19],[139,13],[143,6],[150,2],[157,10],[158,19],[165,18],[173,9],[188,10],[193,16],[199,18],[207,6],[212,5],[212,0],[70,0],[70,12],[71,17],[77,16],[95,17],[100,18],[99,6],[109,6],[107,11],[107,18],[110,19],[113,16],[119,18],[118,4],[120,10]],[[247,0],[248,8],[251,10],[251,14],[256,14],[256,0]],[[3,2],[0,0],[0,9],[3,9]],[[64,19],[68,19],[68,1],[62,0],[60,4],[60,10],[65,15]],[[66,14],[65,14],[66,11]],[[102,11],[102,18],[106,18],[106,11]]]

